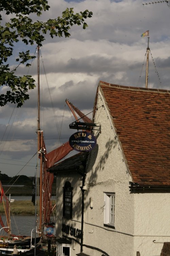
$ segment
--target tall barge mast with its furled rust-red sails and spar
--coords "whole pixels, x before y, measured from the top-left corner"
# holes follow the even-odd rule
[[[40,159],[40,202],[39,202],[39,229],[38,232],[40,236],[45,236],[46,238],[52,237],[49,235],[48,230],[53,229],[53,235],[55,234],[55,223],[51,219],[51,213],[54,209],[51,203],[51,194],[52,194],[52,183],[54,180],[53,173],[47,172],[51,166],[56,162],[60,161],[66,157],[73,149],[69,145],[69,142],[66,142],[56,148],[55,150],[46,153],[45,142],[43,138],[43,131],[40,129],[40,88],[39,88],[39,46],[37,47],[38,53],[38,120],[37,120],[37,134],[38,134],[38,157]],[[66,99],[66,103],[69,106],[72,114],[74,115],[75,120],[79,122],[78,117],[75,115],[74,111],[84,120],[84,122],[91,123],[91,120],[85,116],[78,108],[70,103]]]

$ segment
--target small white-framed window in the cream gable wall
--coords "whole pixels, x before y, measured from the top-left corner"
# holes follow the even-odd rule
[[[104,224],[115,227],[115,193],[104,192]]]

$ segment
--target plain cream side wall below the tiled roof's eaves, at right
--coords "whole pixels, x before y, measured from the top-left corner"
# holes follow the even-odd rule
[[[134,251],[140,256],[160,255],[163,243],[170,242],[170,195],[152,191],[134,196]]]

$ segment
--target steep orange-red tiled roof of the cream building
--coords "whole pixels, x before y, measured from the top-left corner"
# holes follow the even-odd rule
[[[99,88],[133,181],[170,185],[170,91],[102,81]]]

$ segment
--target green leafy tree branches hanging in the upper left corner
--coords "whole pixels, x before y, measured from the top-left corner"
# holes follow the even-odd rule
[[[35,58],[30,55],[29,50],[19,52],[16,59],[16,68],[11,70],[9,58],[13,55],[16,43],[22,41],[26,45],[42,46],[45,34],[49,32],[53,37],[69,37],[70,27],[77,24],[83,25],[83,29],[88,27],[85,23],[86,18],[92,16],[92,12],[75,13],[73,8],[66,9],[62,17],[48,19],[46,22],[39,20],[33,21],[31,14],[40,16],[42,12],[48,11],[50,6],[47,0],[1,0],[0,1],[0,20],[2,12],[13,16],[5,26],[0,23],[0,86],[8,86],[9,90],[0,95],[0,106],[7,102],[17,103],[17,107],[23,105],[29,99],[28,90],[35,87],[34,79],[30,75],[17,76],[16,70],[20,64],[30,66],[29,60]]]

